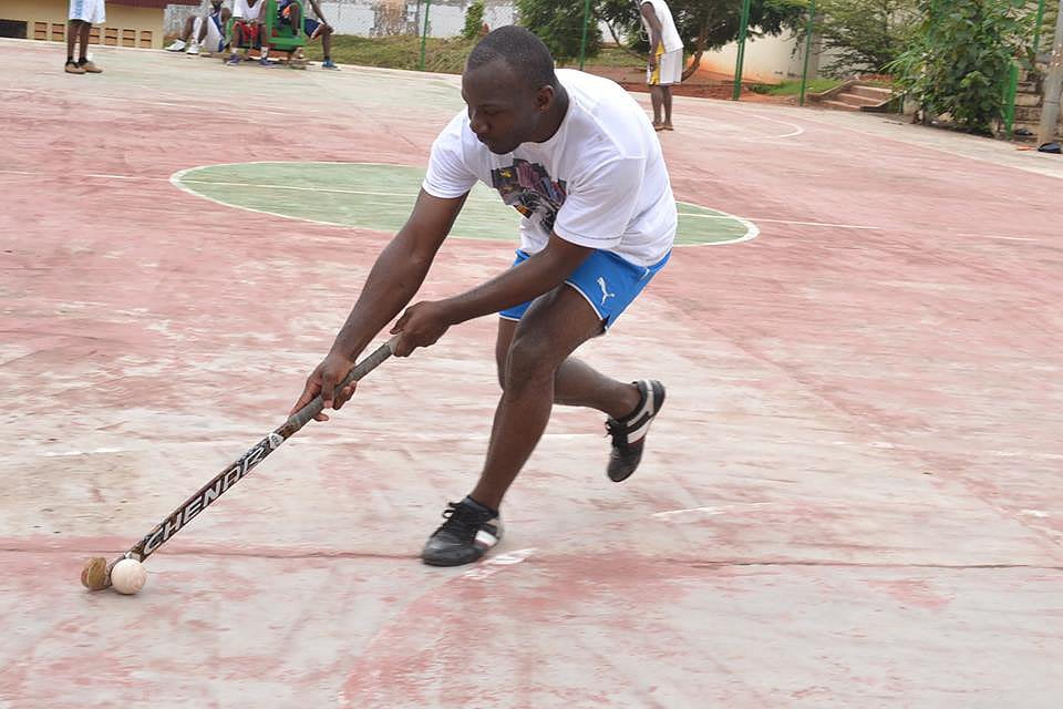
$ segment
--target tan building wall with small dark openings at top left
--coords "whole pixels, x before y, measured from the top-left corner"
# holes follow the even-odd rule
[[[111,2],[107,3],[106,9],[107,20],[93,28],[90,43],[162,48],[162,10]],[[3,0],[0,2],[0,19],[25,22],[28,39],[65,42],[69,11],[69,0]]]

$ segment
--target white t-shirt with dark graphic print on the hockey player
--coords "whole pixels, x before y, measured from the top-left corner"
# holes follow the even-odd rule
[[[476,181],[524,215],[520,248],[543,250],[553,230],[566,242],[652,266],[675,239],[675,198],[661,144],[642,107],[618,84],[561,69],[569,105],[545,143],[496,155],[462,111],[432,145],[424,191],[460,197]]]

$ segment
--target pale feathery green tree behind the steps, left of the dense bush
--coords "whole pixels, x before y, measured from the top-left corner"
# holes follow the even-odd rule
[[[832,56],[824,73],[883,71],[909,45],[917,6],[918,0],[817,0],[816,33]]]

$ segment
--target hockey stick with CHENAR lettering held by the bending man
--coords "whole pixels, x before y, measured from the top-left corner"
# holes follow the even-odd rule
[[[354,364],[348,376],[343,378],[343,381],[337,384],[337,391],[358,381],[383,363],[384,360],[391,357],[398,339],[399,336],[395,336],[376,348],[376,350],[367,356],[362,361]],[[188,522],[251,472],[251,469],[261,463],[267,455],[280,448],[281,443],[321,413],[323,409],[324,402],[321,400],[321,394],[318,394],[310,403],[291,414],[282,425],[256,443],[251,450],[244,453],[244,455],[215,475],[210,482],[200,487],[194,495],[185,500],[176,510],[171,512],[165,520],[156,524],[151,532],[144,535],[144,538],[137,542],[128,552],[112,561],[110,564],[107,559],[102,556],[94,556],[89,559],[89,562],[85,563],[84,569],[81,572],[81,583],[90,590],[102,590],[110,586],[111,568],[116,563],[123,558],[143,562],[154,554],[158,547],[168,542],[171,537],[184,528]]]

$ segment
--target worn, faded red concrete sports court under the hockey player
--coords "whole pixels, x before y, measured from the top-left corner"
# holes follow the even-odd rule
[[[359,219],[409,208],[461,99],[61,54],[0,42],[0,707],[1060,706],[1057,157],[678,100],[677,197],[736,232],[587,348],[669,387],[631,480],[598,414],[557,409],[497,552],[417,561],[482,462],[484,318],[370,374],[121,597],[82,588],[85,557],[283,420],[390,237]],[[208,166],[236,172],[190,182]],[[478,236],[422,297],[507,266],[507,233]]]

